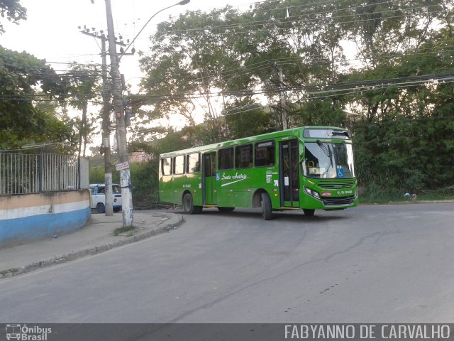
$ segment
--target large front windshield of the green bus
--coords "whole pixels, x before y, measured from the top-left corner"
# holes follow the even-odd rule
[[[320,140],[307,142],[301,168],[309,178],[354,178],[352,145]]]

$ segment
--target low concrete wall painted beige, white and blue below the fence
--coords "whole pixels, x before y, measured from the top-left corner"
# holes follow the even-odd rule
[[[73,232],[90,219],[89,190],[0,196],[0,246]]]

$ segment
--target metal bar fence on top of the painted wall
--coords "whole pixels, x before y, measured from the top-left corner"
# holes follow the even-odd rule
[[[0,195],[89,187],[89,159],[40,153],[0,153]]]

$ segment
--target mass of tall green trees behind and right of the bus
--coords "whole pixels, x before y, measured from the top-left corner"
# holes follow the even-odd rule
[[[140,115],[179,113],[191,126],[155,150],[261,134],[286,119],[350,129],[367,193],[454,183],[453,1],[261,1],[187,12],[151,41],[140,105],[152,109]],[[205,112],[198,127],[194,103]]]

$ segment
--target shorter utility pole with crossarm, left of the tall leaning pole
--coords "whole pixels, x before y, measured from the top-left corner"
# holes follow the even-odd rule
[[[101,31],[102,32],[102,31]],[[104,196],[106,197],[104,201],[105,213],[106,215],[114,215],[114,193],[112,193],[112,163],[111,163],[111,131],[110,126],[110,91],[109,91],[109,81],[107,78],[107,50],[106,50],[106,41],[107,38],[103,33],[97,35],[96,33],[91,33],[88,30],[81,31],[82,34],[91,36],[93,38],[101,40],[101,57],[102,57],[102,148],[104,151],[104,183],[106,184]],[[121,46],[126,46],[124,43],[116,44]]]

